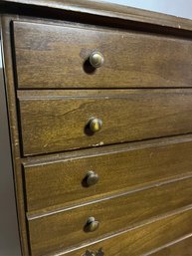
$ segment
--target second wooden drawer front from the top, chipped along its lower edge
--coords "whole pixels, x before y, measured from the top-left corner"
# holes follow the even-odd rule
[[[192,132],[192,90],[20,91],[24,155]],[[102,122],[91,132],[92,118]],[[93,120],[92,120],[93,121]]]

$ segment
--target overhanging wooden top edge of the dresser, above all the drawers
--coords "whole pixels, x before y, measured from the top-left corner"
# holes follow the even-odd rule
[[[0,5],[8,5],[12,8],[13,4],[16,4],[18,7],[32,7],[44,8],[46,11],[48,9],[66,11],[65,14],[73,12],[76,16],[83,14],[85,17],[89,16],[100,17],[100,23],[104,18],[108,18],[111,21],[111,18],[115,20],[115,23],[124,22],[126,24],[139,23],[140,27],[147,28],[148,26],[155,25],[157,30],[160,27],[161,32],[165,31],[166,28],[169,28],[169,33],[171,33],[171,28],[173,32],[176,31],[191,31],[192,21],[188,19],[183,19],[179,17],[174,17],[171,15],[161,14],[150,12],[146,10],[136,9],[132,7],[125,7],[111,3],[104,3],[104,1],[90,1],[90,0],[1,0]],[[36,9],[37,10],[37,9]]]

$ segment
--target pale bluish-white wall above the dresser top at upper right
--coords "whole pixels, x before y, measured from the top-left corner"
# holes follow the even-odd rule
[[[104,2],[192,19],[192,0],[104,0]]]

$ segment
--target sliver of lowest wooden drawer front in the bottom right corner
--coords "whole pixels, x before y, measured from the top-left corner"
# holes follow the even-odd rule
[[[162,250],[147,256],[191,256],[192,255],[192,235],[165,246]]]

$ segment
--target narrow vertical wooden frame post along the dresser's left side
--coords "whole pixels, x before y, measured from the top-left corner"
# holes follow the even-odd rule
[[[12,19],[16,19],[13,16]],[[18,223],[21,239],[21,250],[24,256],[29,255],[29,244],[26,227],[26,214],[24,204],[24,193],[23,193],[23,177],[22,177],[22,165],[20,155],[20,139],[18,131],[18,120],[17,120],[17,107],[16,107],[16,94],[14,85],[14,71],[12,62],[12,48],[11,48],[11,37],[10,37],[10,17],[7,15],[1,15],[2,24],[2,43],[3,43],[3,54],[4,54],[4,76],[6,82],[6,93],[7,93],[7,108],[10,126],[10,139],[12,148],[12,162],[14,169],[14,181],[15,181],[15,192],[17,202],[17,213]],[[6,194],[5,194],[6,196]],[[11,238],[10,238],[11,239]]]

